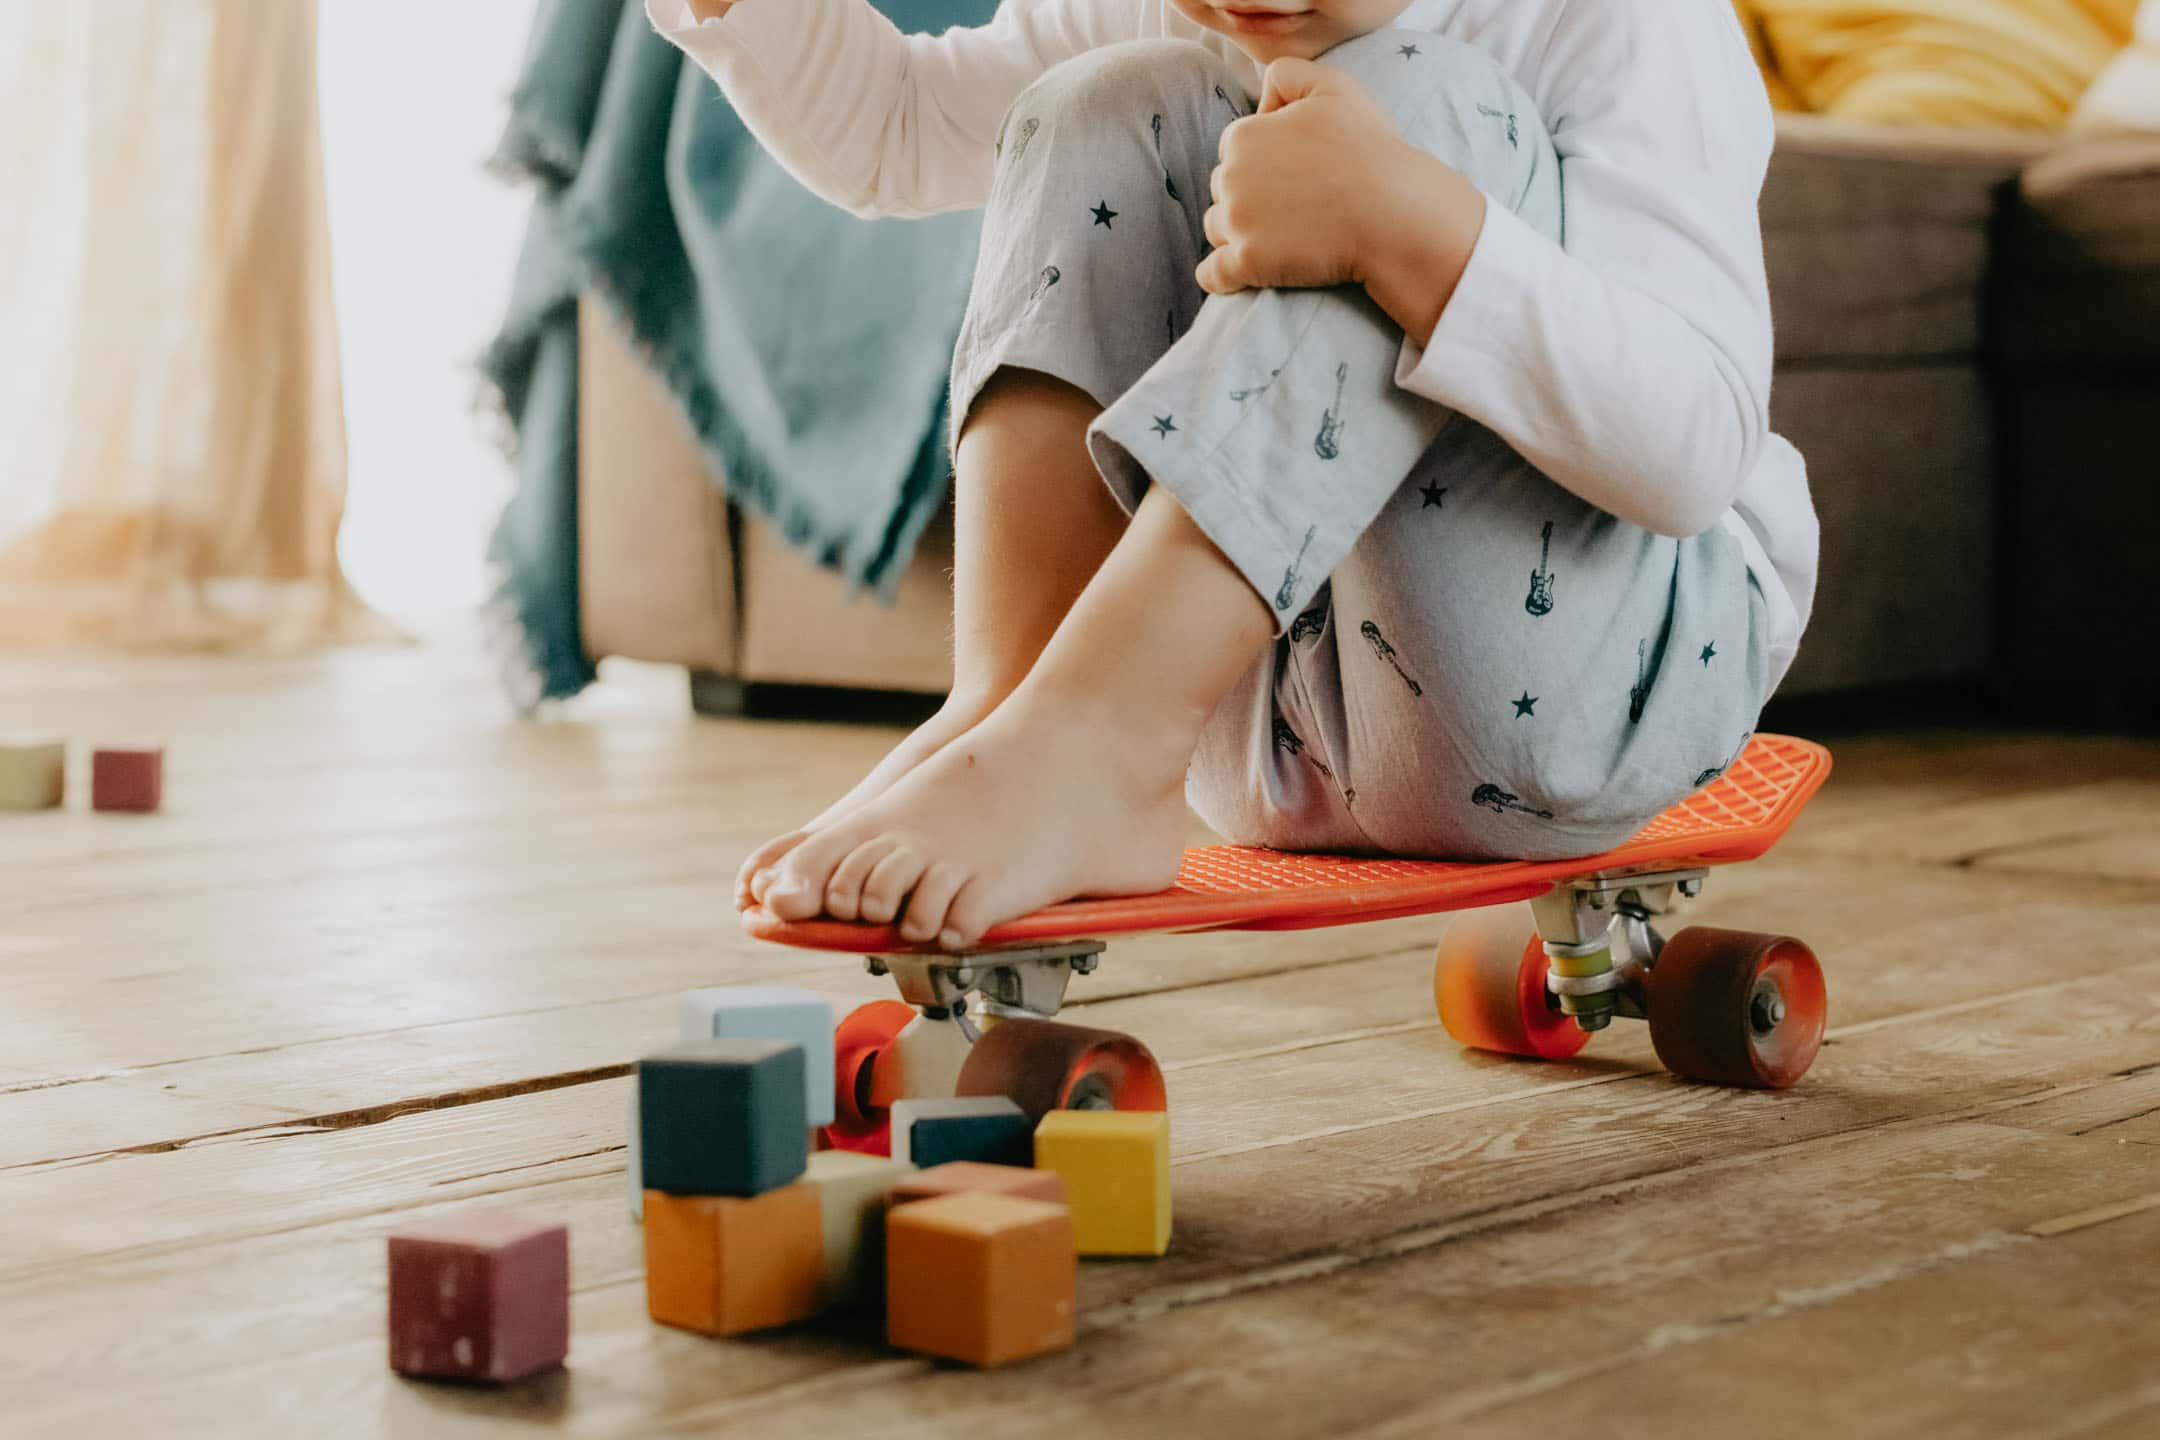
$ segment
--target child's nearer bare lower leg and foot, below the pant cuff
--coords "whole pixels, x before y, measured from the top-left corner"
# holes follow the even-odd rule
[[[1166,492],[1149,494],[1020,689],[886,794],[806,838],[773,913],[860,892],[866,920],[963,948],[1076,894],[1177,874],[1184,779],[1220,695],[1268,643],[1266,602]]]

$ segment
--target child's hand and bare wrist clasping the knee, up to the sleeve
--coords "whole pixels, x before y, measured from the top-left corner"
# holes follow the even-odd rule
[[[1406,332],[1432,332],[1475,248],[1484,196],[1415,149],[1356,80],[1268,65],[1259,114],[1223,132],[1203,216],[1201,289],[1365,285]]]

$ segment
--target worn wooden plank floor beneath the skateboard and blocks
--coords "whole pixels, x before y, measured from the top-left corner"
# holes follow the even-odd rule
[[[462,643],[0,661],[0,730],[171,741],[156,818],[0,816],[0,1434],[2151,1436],[2160,745],[1838,745],[1696,915],[1821,952],[1793,1092],[1629,1025],[1464,1054],[1436,922],[1115,946],[1166,1062],[1177,1239],[978,1375],[644,1317],[624,1067],[691,984],[879,987],[743,939],[743,848],[892,732],[693,721],[631,671],[505,717]],[[80,792],[80,786],[78,786]],[[382,1362],[382,1237],[572,1228],[570,1369]]]

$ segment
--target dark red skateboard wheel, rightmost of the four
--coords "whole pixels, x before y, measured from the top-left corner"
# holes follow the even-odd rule
[[[1650,969],[1650,1043],[1665,1069],[1784,1090],[1823,1047],[1830,1000],[1814,952],[1788,935],[1689,926]]]

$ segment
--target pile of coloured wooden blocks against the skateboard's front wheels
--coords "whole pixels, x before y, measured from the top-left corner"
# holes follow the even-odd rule
[[[812,1151],[832,1013],[808,991],[683,995],[637,1067],[631,1185],[652,1319],[704,1334],[883,1300],[892,1345],[968,1364],[1069,1347],[1078,1256],[1162,1254],[1169,1116],[1004,1097],[892,1105],[892,1157]]]

